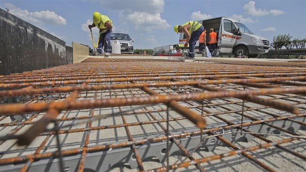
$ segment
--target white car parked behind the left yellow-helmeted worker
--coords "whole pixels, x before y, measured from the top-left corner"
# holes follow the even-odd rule
[[[131,39],[129,34],[126,33],[111,33],[111,43],[113,41],[119,41],[121,46],[121,53],[134,53],[134,46],[133,42],[134,40]]]

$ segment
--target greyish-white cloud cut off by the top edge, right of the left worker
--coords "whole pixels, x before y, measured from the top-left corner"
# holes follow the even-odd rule
[[[95,0],[92,0],[96,3]],[[118,11],[146,12],[150,14],[164,11],[165,0],[102,0],[102,9]]]

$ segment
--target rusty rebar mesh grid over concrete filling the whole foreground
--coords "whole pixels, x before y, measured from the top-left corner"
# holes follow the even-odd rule
[[[95,62],[0,89],[0,171],[306,169],[305,68]]]

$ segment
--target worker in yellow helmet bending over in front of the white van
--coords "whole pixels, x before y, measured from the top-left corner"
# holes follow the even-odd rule
[[[174,26],[175,33],[184,33],[186,34],[186,43],[184,47],[188,46],[189,43],[189,52],[188,56],[185,59],[194,59],[194,46],[197,43],[200,35],[204,31],[204,26],[197,21],[188,21],[182,26]]]

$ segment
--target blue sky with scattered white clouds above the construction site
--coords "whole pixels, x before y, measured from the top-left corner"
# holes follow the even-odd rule
[[[95,11],[113,20],[114,32],[134,38],[135,49],[178,43],[173,27],[189,20],[234,17],[255,34],[306,37],[306,0],[0,0],[0,8],[66,41],[92,46]],[[205,26],[204,26],[205,27]],[[93,30],[95,41],[98,30]]]

